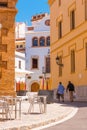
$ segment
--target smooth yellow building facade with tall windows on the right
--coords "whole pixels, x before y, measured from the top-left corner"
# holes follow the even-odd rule
[[[87,95],[87,0],[48,0],[52,89],[72,81]],[[64,66],[56,64],[56,57]],[[86,91],[85,91],[86,90]]]

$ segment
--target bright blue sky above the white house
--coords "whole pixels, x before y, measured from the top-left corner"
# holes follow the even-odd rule
[[[16,22],[26,22],[28,25],[31,25],[33,15],[50,13],[48,0],[18,0],[16,8]]]

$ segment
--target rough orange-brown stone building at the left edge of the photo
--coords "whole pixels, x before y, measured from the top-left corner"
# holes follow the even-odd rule
[[[16,2],[0,0],[0,95],[15,95]]]

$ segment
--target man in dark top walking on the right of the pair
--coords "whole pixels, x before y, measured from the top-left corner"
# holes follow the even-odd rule
[[[75,92],[74,84],[71,81],[68,82],[66,91],[69,91],[70,101],[73,102],[73,93]]]

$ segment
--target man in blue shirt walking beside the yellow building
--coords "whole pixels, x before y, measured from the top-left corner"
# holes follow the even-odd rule
[[[64,86],[62,85],[62,82],[59,82],[58,88],[57,88],[57,98],[60,101],[60,97],[62,101],[64,102]]]

